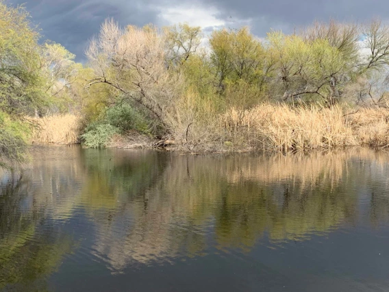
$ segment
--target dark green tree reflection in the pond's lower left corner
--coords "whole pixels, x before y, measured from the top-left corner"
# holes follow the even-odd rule
[[[8,182],[0,184],[0,289],[45,291],[45,279],[71,252],[73,243],[53,227],[41,228],[45,212],[34,197],[29,205],[31,180],[5,175]]]

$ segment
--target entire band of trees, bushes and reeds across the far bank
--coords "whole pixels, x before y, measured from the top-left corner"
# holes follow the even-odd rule
[[[260,40],[248,27],[207,36],[108,19],[83,66],[40,42],[23,7],[0,1],[0,12],[2,166],[25,160],[31,138],[108,147],[127,137],[192,152],[388,146],[389,27],[379,20]]]

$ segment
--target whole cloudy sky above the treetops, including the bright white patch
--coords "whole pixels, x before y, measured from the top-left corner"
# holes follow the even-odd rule
[[[318,20],[386,21],[388,0],[6,0],[23,4],[39,25],[42,39],[59,42],[85,59],[88,40],[106,18],[121,25],[158,26],[187,22],[205,32],[249,25],[263,38],[271,29],[292,32]]]

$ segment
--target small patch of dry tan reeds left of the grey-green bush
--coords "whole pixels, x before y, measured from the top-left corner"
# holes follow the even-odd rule
[[[81,118],[74,114],[58,114],[34,118],[38,125],[32,134],[32,143],[76,144],[81,132]]]

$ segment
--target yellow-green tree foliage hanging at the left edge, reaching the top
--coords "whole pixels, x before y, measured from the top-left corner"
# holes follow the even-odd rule
[[[24,8],[0,1],[0,110],[13,117],[45,105],[38,38]]]

